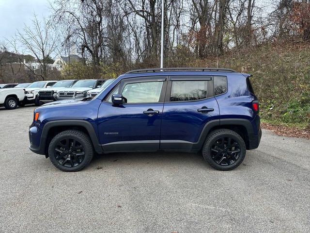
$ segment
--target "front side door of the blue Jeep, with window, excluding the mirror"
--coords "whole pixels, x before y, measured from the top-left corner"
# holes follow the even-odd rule
[[[166,77],[122,80],[102,102],[98,131],[103,150],[158,150]],[[126,103],[113,106],[111,96],[122,94]]]

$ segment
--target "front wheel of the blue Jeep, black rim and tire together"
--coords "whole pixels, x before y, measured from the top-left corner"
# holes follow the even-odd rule
[[[74,143],[74,140],[76,140],[76,143]],[[74,148],[83,149],[75,150]],[[84,155],[82,155],[83,152]],[[58,169],[62,171],[79,171],[92,161],[93,145],[87,134],[78,130],[66,130],[53,137],[48,146],[48,155],[50,161]]]

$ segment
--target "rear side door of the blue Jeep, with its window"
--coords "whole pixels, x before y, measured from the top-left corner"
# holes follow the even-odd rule
[[[161,150],[195,150],[203,127],[218,119],[212,76],[170,76],[161,124]]]

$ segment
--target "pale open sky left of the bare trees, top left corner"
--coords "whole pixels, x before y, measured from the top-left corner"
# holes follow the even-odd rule
[[[34,12],[38,18],[48,16],[48,0],[0,0],[0,41],[30,25]]]

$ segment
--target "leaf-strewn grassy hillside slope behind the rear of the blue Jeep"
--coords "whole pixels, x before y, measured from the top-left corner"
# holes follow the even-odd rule
[[[310,127],[309,43],[266,44],[193,60],[186,66],[227,67],[253,74],[251,82],[263,120]]]

